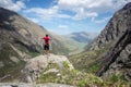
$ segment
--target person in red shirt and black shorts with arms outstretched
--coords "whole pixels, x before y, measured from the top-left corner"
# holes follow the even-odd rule
[[[50,38],[48,37],[48,35],[46,35],[41,39],[44,39],[44,51],[46,54],[48,54],[49,53],[49,40],[50,40]]]

